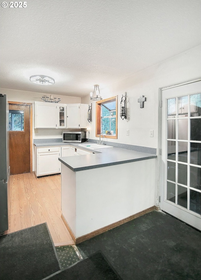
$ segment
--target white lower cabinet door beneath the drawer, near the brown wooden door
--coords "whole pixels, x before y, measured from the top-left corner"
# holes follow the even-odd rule
[[[59,152],[38,153],[37,176],[60,173]]]

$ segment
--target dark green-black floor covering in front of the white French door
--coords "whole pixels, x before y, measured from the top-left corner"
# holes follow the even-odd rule
[[[77,245],[101,250],[124,280],[201,279],[201,232],[153,211]]]

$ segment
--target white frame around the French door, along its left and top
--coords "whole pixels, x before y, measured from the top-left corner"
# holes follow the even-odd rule
[[[159,201],[159,207],[161,206],[160,204],[160,198],[161,198],[161,188],[162,188],[162,182],[161,182],[161,160],[162,160],[162,153],[165,153],[165,151],[162,150],[162,106],[165,106],[165,104],[162,104],[162,91],[165,90],[165,89],[171,89],[171,88],[176,88],[176,87],[180,87],[180,86],[183,86],[183,85],[187,85],[187,84],[190,84],[190,83],[195,83],[195,82],[199,82],[201,81],[201,78],[198,78],[196,80],[190,80],[190,81],[186,81],[184,83],[179,83],[179,84],[174,84],[174,85],[171,85],[171,86],[167,86],[167,87],[163,87],[163,88],[159,88],[159,125],[158,125],[158,129],[159,129],[159,138],[158,138],[158,147],[159,147],[159,161],[158,161],[158,170],[159,170],[159,175],[157,176],[158,177],[158,180],[159,180],[159,191],[157,193],[157,196],[158,196],[158,201]],[[163,198],[161,198],[163,199]],[[160,207],[161,209],[161,207]]]

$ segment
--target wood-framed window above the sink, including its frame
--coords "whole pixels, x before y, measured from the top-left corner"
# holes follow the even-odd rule
[[[96,102],[96,137],[117,139],[117,96]]]

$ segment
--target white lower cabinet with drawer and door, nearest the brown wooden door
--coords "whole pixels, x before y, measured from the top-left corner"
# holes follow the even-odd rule
[[[36,176],[60,173],[60,154],[60,147],[38,148]]]

